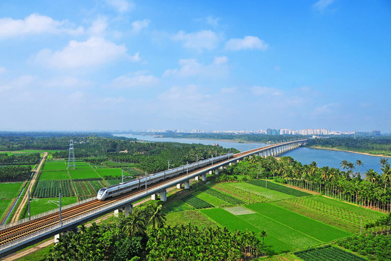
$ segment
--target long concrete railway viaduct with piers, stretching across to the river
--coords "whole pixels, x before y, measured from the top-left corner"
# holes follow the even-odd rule
[[[213,172],[218,175],[219,169],[235,164],[246,157],[259,155],[262,157],[276,156],[289,150],[299,147],[308,140],[295,140],[271,144],[265,147],[247,150],[234,154],[231,159],[212,163],[209,166],[183,173],[163,180],[159,183],[132,191],[130,193],[99,201],[95,197],[70,204],[60,209],[42,213],[36,216],[0,227],[0,257],[11,254],[27,246],[36,244],[46,238],[54,236],[54,242],[58,240],[61,232],[76,229],[78,225],[96,219],[102,215],[113,212],[123,212],[128,215],[132,209],[132,203],[151,196],[153,200],[165,201],[167,199],[166,189],[177,186],[177,188],[190,188],[190,180],[206,180],[206,175]]]

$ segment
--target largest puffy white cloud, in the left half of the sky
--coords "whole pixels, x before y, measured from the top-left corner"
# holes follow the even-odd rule
[[[35,61],[47,66],[57,68],[78,68],[104,64],[120,58],[130,61],[139,61],[139,54],[129,56],[125,45],[104,40],[103,38],[91,37],[85,42],[70,41],[62,50],[41,50],[35,57]]]

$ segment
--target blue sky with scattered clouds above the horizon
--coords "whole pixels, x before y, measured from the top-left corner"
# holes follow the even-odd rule
[[[0,129],[391,132],[389,1],[2,1]]]

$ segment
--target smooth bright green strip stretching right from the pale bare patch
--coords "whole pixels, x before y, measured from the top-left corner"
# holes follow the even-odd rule
[[[326,225],[314,219],[299,215],[270,203],[246,205],[246,207],[276,222],[280,222],[295,230],[308,234],[310,237],[313,237],[322,242],[328,242],[351,235],[348,232],[342,231],[335,227]]]

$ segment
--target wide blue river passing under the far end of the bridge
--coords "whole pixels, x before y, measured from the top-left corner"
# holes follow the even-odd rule
[[[137,140],[154,141],[154,142],[179,142],[179,143],[201,143],[205,145],[212,145],[218,143],[220,146],[225,148],[236,148],[240,151],[255,149],[266,146],[265,143],[241,143],[241,142],[230,142],[230,141],[218,141],[218,140],[205,140],[205,139],[182,139],[182,138],[160,138],[152,137],[148,135],[133,135],[133,134],[115,134],[114,136],[135,138]],[[315,149],[315,148],[297,148],[288,151],[283,156],[291,156],[296,161],[304,164],[310,164],[316,161],[318,167],[329,166],[334,168],[340,168],[340,163],[343,160],[355,163],[356,160],[360,160],[364,166],[360,167],[361,177],[364,177],[364,173],[368,169],[374,169],[379,174],[380,170],[380,158],[379,156],[370,156],[365,154],[359,154],[354,152],[338,151],[338,150],[327,150],[327,149]],[[391,159],[389,160],[391,161]],[[356,166],[355,172],[358,172],[358,166]]]

